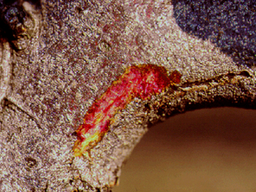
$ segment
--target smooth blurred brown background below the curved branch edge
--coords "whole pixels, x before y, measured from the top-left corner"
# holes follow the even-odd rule
[[[149,128],[113,192],[256,191],[256,110],[194,110]]]

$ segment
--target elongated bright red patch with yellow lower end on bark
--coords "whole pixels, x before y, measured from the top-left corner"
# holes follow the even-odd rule
[[[78,138],[73,147],[74,155],[85,155],[96,146],[109,130],[111,118],[133,98],[150,99],[152,95],[179,82],[181,74],[178,71],[168,75],[162,66],[147,64],[128,67],[85,114],[84,123],[76,130]]]

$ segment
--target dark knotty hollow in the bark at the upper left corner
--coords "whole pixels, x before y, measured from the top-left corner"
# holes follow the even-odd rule
[[[40,10],[40,0],[0,0],[0,38],[8,40],[14,50],[27,48],[37,29],[32,12],[40,14]]]

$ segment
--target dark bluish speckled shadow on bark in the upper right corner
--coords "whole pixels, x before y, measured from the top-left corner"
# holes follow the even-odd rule
[[[256,62],[254,0],[172,0],[174,18],[188,34],[210,39],[237,65]]]

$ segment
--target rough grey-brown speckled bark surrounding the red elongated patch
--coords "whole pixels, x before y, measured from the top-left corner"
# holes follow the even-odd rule
[[[26,3],[28,46],[1,37],[0,191],[109,191],[149,124],[201,107],[255,107],[254,1]],[[145,63],[178,70],[181,83],[135,98],[91,158],[74,158],[72,133],[88,108]]]

